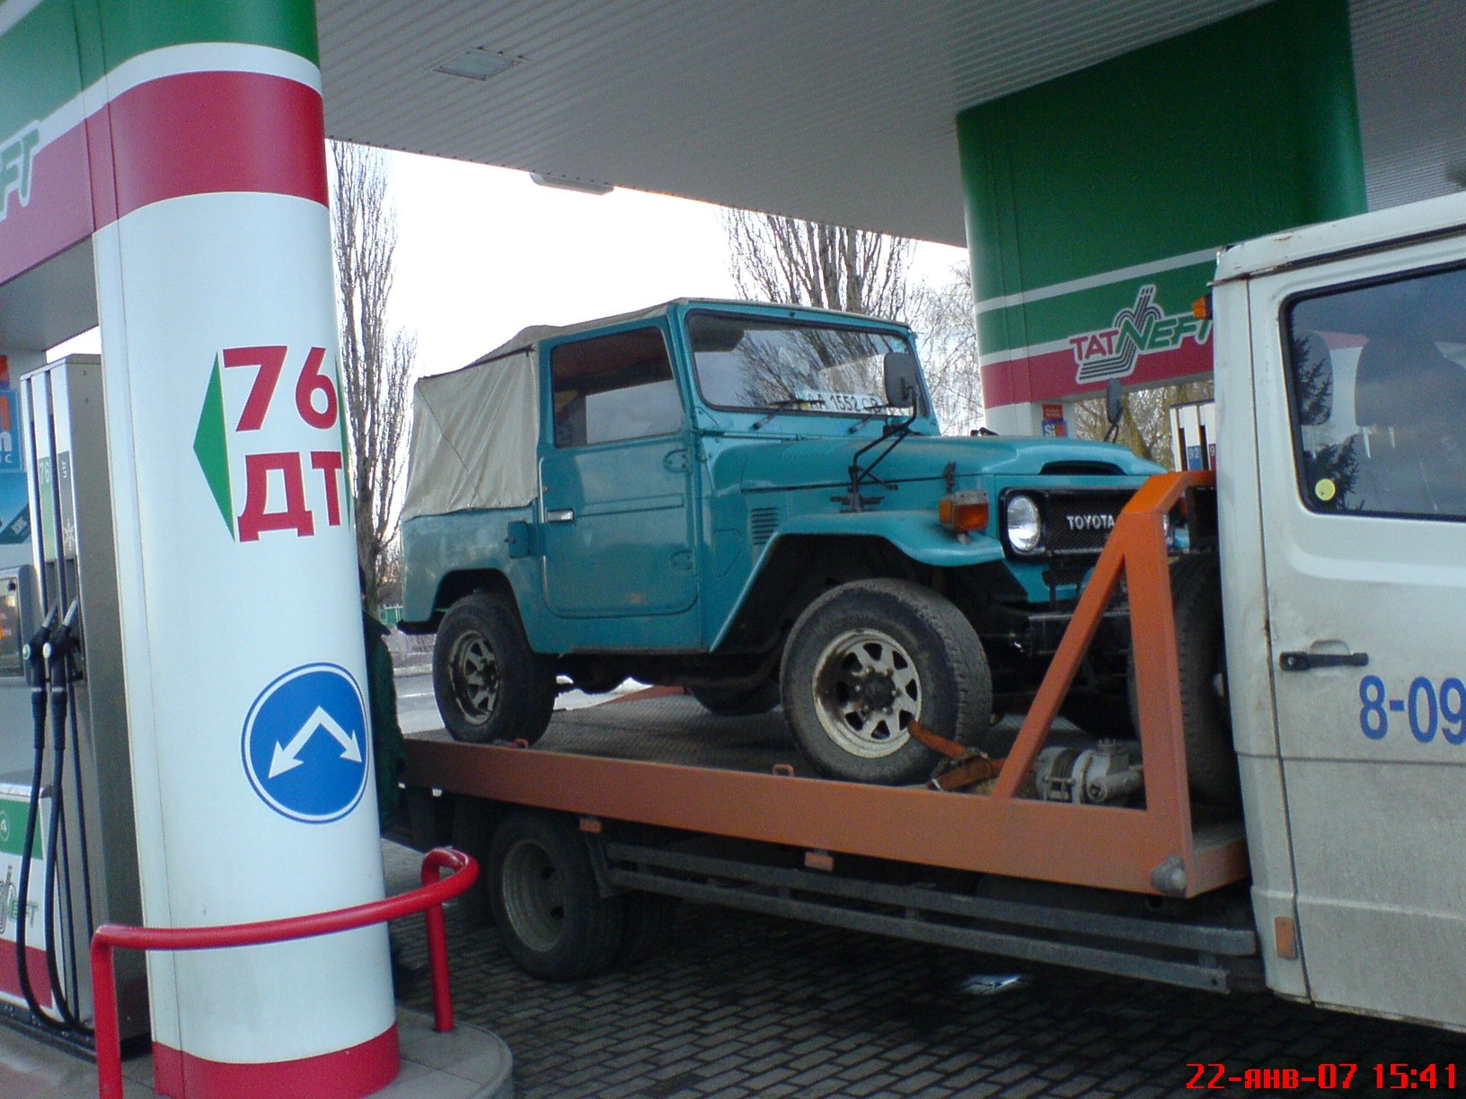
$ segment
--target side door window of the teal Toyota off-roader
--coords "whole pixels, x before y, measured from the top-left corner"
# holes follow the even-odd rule
[[[554,444],[586,447],[682,428],[682,400],[660,328],[561,343],[550,352]]]

